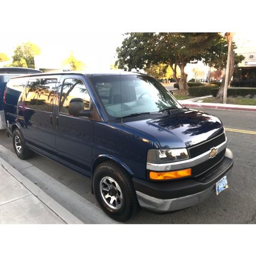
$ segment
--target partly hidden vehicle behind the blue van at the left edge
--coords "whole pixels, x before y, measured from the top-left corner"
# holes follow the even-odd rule
[[[41,71],[32,68],[0,68],[0,130],[6,129],[4,116],[4,90],[11,77],[17,77],[20,74],[35,74]]]

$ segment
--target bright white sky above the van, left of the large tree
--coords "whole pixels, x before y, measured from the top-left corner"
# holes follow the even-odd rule
[[[0,52],[13,56],[14,48],[22,42],[33,42],[41,48],[41,62],[58,68],[71,51],[83,61],[87,68],[109,69],[115,63],[115,50],[121,45],[121,32],[83,32],[83,36],[68,33],[62,39],[56,39],[56,33],[19,32],[6,36],[0,41]],[[42,64],[43,65],[43,64]],[[47,68],[47,67],[42,67]]]

